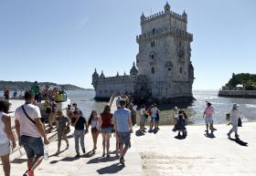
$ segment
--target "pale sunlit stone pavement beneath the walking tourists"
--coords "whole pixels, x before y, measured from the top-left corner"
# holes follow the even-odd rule
[[[44,160],[35,172],[37,176],[73,175],[148,175],[148,176],[255,176],[256,175],[256,122],[244,123],[239,128],[240,141],[229,140],[230,126],[215,125],[214,136],[205,136],[204,126],[188,126],[185,140],[177,140],[172,127],[161,126],[157,133],[141,135],[134,131],[132,149],[128,150],[126,167],[112,154],[111,159],[102,159],[101,136],[95,155],[87,153],[75,159],[74,141],[70,149],[59,156]],[[136,128],[138,129],[138,128]],[[214,138],[215,137],[215,138]],[[86,150],[92,149],[91,133],[86,135]],[[244,146],[248,142],[247,146]],[[111,139],[111,150],[115,140]],[[66,144],[62,141],[62,148]],[[57,150],[57,142],[50,144],[50,155]],[[12,176],[20,176],[26,170],[26,157],[12,163]],[[0,175],[3,175],[0,169]]]

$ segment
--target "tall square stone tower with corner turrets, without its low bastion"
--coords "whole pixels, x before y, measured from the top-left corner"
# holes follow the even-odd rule
[[[194,67],[190,61],[193,36],[187,32],[187,14],[178,15],[166,3],[164,11],[141,16],[137,36],[138,75],[147,77],[155,98],[192,97]]]

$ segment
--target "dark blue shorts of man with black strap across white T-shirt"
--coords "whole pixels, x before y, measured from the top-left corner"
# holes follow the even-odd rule
[[[26,150],[27,158],[44,156],[44,144],[41,138],[21,136],[21,143]]]

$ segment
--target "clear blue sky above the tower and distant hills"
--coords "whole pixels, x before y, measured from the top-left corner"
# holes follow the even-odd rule
[[[140,16],[162,11],[165,0],[2,0],[0,80],[91,87],[94,68],[129,73]],[[194,35],[194,89],[218,89],[233,72],[255,73],[255,0],[172,0],[188,15]]]

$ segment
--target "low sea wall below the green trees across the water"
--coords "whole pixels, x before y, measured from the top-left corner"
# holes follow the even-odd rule
[[[219,97],[256,98],[256,90],[219,90]]]

